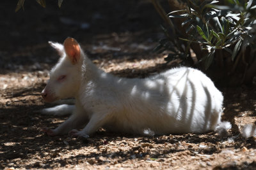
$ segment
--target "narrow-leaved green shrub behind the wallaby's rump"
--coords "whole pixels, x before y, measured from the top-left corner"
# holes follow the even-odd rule
[[[256,74],[255,1],[168,2],[171,12],[163,15],[159,1],[152,0],[168,23],[163,27],[166,38],[155,48],[170,51],[167,62],[181,59],[181,64],[199,67],[228,85],[252,83]],[[193,53],[196,57],[191,60]]]

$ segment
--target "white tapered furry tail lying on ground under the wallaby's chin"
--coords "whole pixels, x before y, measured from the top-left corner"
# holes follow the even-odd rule
[[[69,104],[61,104],[58,106],[54,106],[52,108],[45,108],[40,110],[40,113],[44,115],[57,115],[57,116],[64,116],[64,115],[71,115],[71,113],[75,110],[74,105]]]

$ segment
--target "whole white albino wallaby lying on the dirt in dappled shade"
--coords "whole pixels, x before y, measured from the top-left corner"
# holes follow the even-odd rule
[[[204,73],[178,67],[148,78],[120,78],[98,69],[73,38],[49,42],[61,55],[42,91],[46,102],[74,97],[72,115],[49,136],[88,138],[103,127],[132,134],[203,133],[230,128],[221,122],[223,96]],[[74,108],[72,108],[74,107]],[[47,110],[46,110],[47,111]],[[50,112],[54,113],[50,110]],[[82,131],[77,130],[85,125]]]

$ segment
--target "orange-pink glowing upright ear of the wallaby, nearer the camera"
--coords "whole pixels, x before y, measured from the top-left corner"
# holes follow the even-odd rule
[[[76,39],[67,38],[65,39],[63,45],[64,45],[65,52],[67,53],[72,64],[76,64],[77,61],[80,59],[80,55],[81,55],[81,49]]]

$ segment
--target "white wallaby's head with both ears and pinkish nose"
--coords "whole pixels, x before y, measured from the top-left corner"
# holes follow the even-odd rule
[[[63,45],[52,42],[49,44],[61,57],[51,70],[42,97],[46,102],[75,97],[81,81],[83,52],[74,38],[65,39]]]

